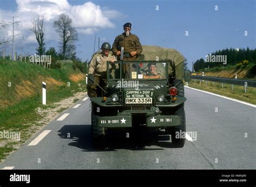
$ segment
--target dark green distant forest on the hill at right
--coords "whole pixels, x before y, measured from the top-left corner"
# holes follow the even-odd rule
[[[208,54],[210,55],[210,54]],[[239,49],[237,51],[234,48],[226,48],[223,49],[222,51],[216,51],[214,53],[211,53],[211,55],[227,55],[226,56],[226,62],[227,64],[223,64],[220,62],[205,62],[203,58],[197,60],[194,62],[194,70],[198,71],[201,69],[205,68],[214,68],[214,67],[219,67],[219,66],[233,66],[237,65],[242,66],[242,65],[247,65],[248,63],[254,63],[256,64],[256,49]]]

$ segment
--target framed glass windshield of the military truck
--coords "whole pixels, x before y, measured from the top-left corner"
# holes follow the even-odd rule
[[[139,80],[161,80],[166,79],[167,62],[166,61],[147,61],[147,62],[126,62],[123,63],[123,78],[124,79],[139,79]],[[120,79],[120,61],[107,63],[107,74],[109,80]]]

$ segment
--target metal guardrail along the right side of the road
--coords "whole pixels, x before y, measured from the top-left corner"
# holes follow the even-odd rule
[[[210,76],[200,76],[200,75],[191,75],[191,78],[196,80],[205,80],[205,81],[235,84],[235,85],[242,85],[242,86],[246,85],[246,87],[256,87],[256,81],[245,80],[245,79],[210,77]]]

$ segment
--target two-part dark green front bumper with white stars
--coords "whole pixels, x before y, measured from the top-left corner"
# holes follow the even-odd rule
[[[107,128],[132,127],[132,115],[97,117],[97,125]],[[181,125],[181,118],[179,116],[153,116],[146,118],[147,127],[170,127],[178,125]]]

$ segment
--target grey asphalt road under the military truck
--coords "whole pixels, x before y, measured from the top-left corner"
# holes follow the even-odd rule
[[[197,133],[197,139],[186,140],[184,148],[174,148],[162,132],[142,132],[143,138],[118,136],[109,149],[93,149],[88,98],[60,114],[0,168],[255,169],[256,108],[188,88],[185,96],[186,131]],[[57,120],[65,113],[70,114]],[[36,144],[38,135],[45,136]]]

